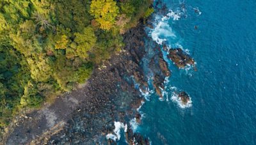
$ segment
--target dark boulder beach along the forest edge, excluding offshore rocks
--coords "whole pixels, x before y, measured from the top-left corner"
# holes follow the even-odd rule
[[[58,97],[49,106],[26,114],[6,137],[6,144],[42,144],[55,141],[64,132],[74,131],[74,125],[82,122],[81,127],[86,129],[75,130],[72,134],[79,132],[81,137],[77,136],[77,139],[90,143],[92,138],[105,138],[113,130],[115,120],[127,122],[134,118],[143,98],[131,84],[131,80],[126,81],[124,78],[136,72],[143,79],[143,72],[138,66],[143,57],[141,49],[144,49],[144,37],[147,34],[140,22],[124,35],[127,45],[122,53],[113,55],[102,68],[95,69],[82,88]],[[101,137],[98,136],[100,134]],[[58,142],[64,140],[66,139],[59,139]],[[76,139],[72,142],[76,142]]]

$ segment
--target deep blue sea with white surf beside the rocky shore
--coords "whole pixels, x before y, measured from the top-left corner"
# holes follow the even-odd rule
[[[152,144],[256,144],[256,1],[161,2],[168,11],[156,9],[148,36],[189,52],[198,71],[168,60],[164,100],[153,90],[146,96],[136,132]],[[177,90],[190,106],[175,101]]]

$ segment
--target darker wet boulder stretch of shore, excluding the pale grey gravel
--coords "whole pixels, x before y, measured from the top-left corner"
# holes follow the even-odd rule
[[[129,78],[128,81],[125,78],[133,76],[141,87],[147,86],[140,67],[145,53],[145,36],[147,35],[142,23],[124,35],[125,52],[122,55],[114,55],[109,60],[111,65],[106,64],[106,69],[93,73],[92,78],[88,80],[88,92],[85,93],[91,98],[91,105],[81,102],[80,107],[83,109],[73,113],[66,127],[52,135],[49,142],[74,144],[80,141],[84,144],[95,144],[100,141],[102,144],[116,144],[111,139],[107,141],[106,134],[114,134],[114,121],[127,122],[134,116],[138,118],[136,109],[142,101],[139,90],[132,86]],[[67,139],[61,138],[62,136]]]

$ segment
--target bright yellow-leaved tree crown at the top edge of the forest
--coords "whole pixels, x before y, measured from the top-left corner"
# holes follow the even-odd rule
[[[100,24],[100,29],[109,30],[116,22],[119,8],[113,0],[92,0],[90,14]]]

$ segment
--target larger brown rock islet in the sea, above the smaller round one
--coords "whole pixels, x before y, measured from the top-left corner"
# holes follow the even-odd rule
[[[184,52],[181,48],[171,49],[168,57],[179,68],[184,68],[187,65],[195,66],[195,60],[192,59],[188,53]]]

